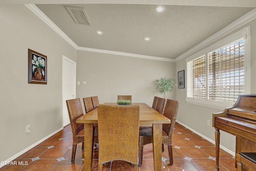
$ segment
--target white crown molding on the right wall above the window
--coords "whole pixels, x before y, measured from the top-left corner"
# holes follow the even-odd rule
[[[238,18],[236,21],[232,22],[228,26],[226,26],[223,29],[221,29],[220,31],[216,32],[215,34],[213,34],[212,36],[210,36],[206,40],[202,41],[198,45],[194,46],[193,48],[191,48],[190,50],[185,52],[184,54],[178,56],[177,58],[174,59],[174,61],[178,62],[179,60],[182,60],[183,58],[188,57],[192,53],[194,53],[194,52],[200,50],[201,48],[203,48],[204,46],[207,46],[207,45],[211,44],[215,40],[218,40],[219,38],[222,38],[223,36],[229,34],[230,32],[244,26],[245,24],[247,24],[247,23],[249,23],[249,22],[251,22],[252,20],[255,20],[255,19],[256,19],[256,9],[254,9],[254,10],[248,12],[247,14],[245,14],[244,16]]]

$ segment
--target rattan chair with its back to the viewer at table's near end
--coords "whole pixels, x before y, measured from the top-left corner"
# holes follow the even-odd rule
[[[98,105],[99,171],[109,161],[132,163],[138,171],[140,105]]]

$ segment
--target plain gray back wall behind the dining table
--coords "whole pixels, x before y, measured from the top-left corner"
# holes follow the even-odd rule
[[[154,96],[164,97],[156,90],[156,79],[175,77],[175,63],[96,52],[78,51],[76,95],[98,95],[100,103],[116,102],[117,95],[132,95],[132,102],[152,105]],[[86,81],[87,84],[82,84]],[[174,92],[166,98],[174,99]]]

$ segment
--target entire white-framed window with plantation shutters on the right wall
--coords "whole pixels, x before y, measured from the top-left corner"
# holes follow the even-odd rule
[[[226,108],[250,93],[250,41],[244,29],[186,59],[186,101]]]

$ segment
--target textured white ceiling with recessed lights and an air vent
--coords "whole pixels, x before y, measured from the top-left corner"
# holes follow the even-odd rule
[[[2,0],[1,3],[35,4],[78,47],[169,59],[177,58],[256,7],[255,0]],[[165,12],[154,11],[158,3],[167,4]],[[92,26],[76,24],[65,6],[84,8]],[[96,30],[104,34],[98,35]],[[151,40],[146,42],[145,36]]]

